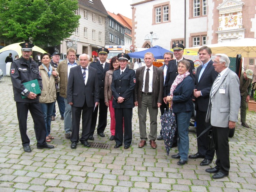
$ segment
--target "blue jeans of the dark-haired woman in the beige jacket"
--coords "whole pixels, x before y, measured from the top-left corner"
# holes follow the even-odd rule
[[[52,110],[55,102],[48,104],[41,104],[41,109],[44,116],[44,122],[46,123],[46,136],[50,135],[51,132],[51,121],[52,121]]]

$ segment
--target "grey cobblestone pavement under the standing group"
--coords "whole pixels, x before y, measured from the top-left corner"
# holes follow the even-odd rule
[[[169,158],[163,140],[156,141],[157,149],[151,149],[149,142],[138,147],[139,120],[137,108],[133,113],[133,140],[129,149],[114,149],[110,141],[110,119],[106,137],[94,134],[94,142],[111,145],[110,149],[86,148],[78,145],[70,149],[65,139],[63,120],[59,111],[52,121],[51,144],[55,149],[36,148],[33,121],[28,116],[28,136],[31,153],[22,149],[15,102],[10,77],[0,80],[0,192],[255,192],[256,191],[256,120],[255,112],[247,113],[247,129],[236,125],[236,132],[230,138],[230,174],[213,180],[202,167],[202,159],[188,160],[178,166],[178,160]],[[58,110],[58,107],[56,107]],[[158,115],[160,116],[160,114]],[[159,118],[160,119],[160,118]],[[149,126],[149,121],[147,121]],[[158,134],[161,129],[158,121]],[[149,130],[148,130],[149,132]],[[189,154],[197,152],[195,128],[190,127]],[[124,146],[124,145],[123,145]],[[170,155],[177,152],[171,149]],[[215,160],[214,160],[215,161]]]

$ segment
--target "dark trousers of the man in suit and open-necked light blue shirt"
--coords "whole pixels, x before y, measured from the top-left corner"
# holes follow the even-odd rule
[[[196,134],[197,137],[207,128],[210,126],[210,123],[206,123],[206,114],[207,112],[197,110],[196,111]],[[208,133],[206,132],[204,135],[202,135],[200,138],[197,139],[197,151],[200,155],[204,155],[205,159],[213,160],[214,157],[214,150],[208,150]]]

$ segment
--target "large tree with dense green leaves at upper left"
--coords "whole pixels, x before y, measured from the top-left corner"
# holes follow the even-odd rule
[[[59,45],[79,26],[78,0],[0,0],[0,31],[13,43]]]

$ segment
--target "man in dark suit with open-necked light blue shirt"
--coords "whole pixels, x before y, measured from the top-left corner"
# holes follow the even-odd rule
[[[196,110],[196,133],[197,137],[210,126],[205,122],[207,107],[209,104],[210,89],[213,86],[218,73],[214,70],[213,60],[210,59],[212,50],[210,47],[203,46],[199,49],[199,59],[202,65],[197,68],[195,89],[193,95],[195,97]],[[209,165],[213,161],[214,150],[208,150],[208,132],[197,139],[197,153],[189,155],[191,159],[204,158],[200,163],[201,166]]]

